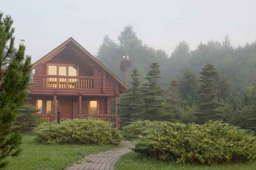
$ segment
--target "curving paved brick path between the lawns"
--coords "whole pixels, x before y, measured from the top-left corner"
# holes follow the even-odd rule
[[[115,170],[115,163],[124,154],[134,147],[128,141],[121,141],[120,147],[98,154],[90,154],[79,163],[74,163],[65,170]]]

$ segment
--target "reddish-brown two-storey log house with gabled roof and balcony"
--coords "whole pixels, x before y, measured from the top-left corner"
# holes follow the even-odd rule
[[[34,63],[27,103],[49,121],[57,120],[61,107],[61,119],[90,116],[119,127],[117,97],[126,89],[126,84],[69,38]]]

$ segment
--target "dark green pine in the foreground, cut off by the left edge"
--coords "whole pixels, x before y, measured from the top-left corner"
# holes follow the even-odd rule
[[[4,158],[20,152],[22,136],[11,132],[18,108],[24,104],[28,94],[31,57],[24,57],[25,46],[14,49],[13,19],[3,18],[0,13],[0,168],[7,164]]]

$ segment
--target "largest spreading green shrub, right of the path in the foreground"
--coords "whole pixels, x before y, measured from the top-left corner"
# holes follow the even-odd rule
[[[252,132],[220,121],[207,124],[168,123],[140,136],[132,150],[163,161],[179,164],[215,165],[252,161],[256,158],[256,138]]]

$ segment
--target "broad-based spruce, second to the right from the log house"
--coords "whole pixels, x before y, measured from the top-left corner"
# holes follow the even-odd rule
[[[162,121],[171,120],[174,116],[170,113],[166,106],[166,101],[164,99],[164,88],[160,87],[157,82],[161,71],[159,70],[159,65],[157,62],[153,62],[150,65],[150,71],[148,71],[145,77],[148,83],[143,84],[143,101],[144,104],[141,105],[143,112],[141,113],[141,118],[151,120],[151,121]]]

